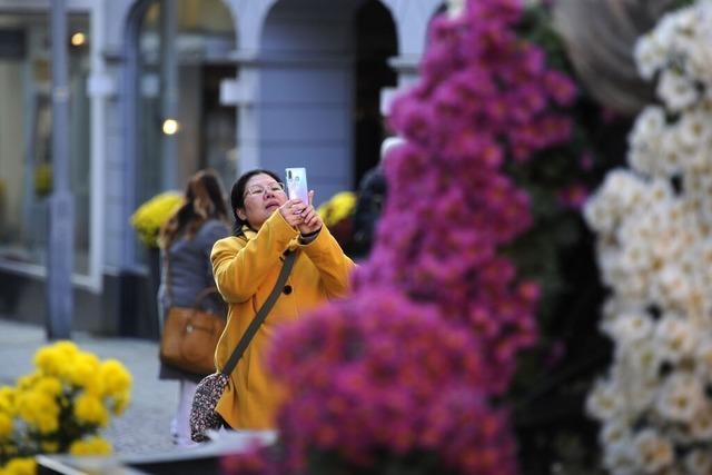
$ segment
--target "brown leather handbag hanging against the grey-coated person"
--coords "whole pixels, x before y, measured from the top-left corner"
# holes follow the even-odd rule
[[[166,291],[172,301],[168,254],[166,261]],[[198,294],[192,307],[169,307],[160,338],[160,360],[175,368],[197,375],[215,373],[215,348],[225,329],[225,317],[204,309],[204,301],[217,294],[208,287]]]

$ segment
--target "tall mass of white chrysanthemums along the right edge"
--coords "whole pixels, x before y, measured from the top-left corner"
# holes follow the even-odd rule
[[[611,172],[586,209],[611,289],[601,329],[615,343],[586,408],[611,473],[712,474],[711,24],[712,0],[699,0],[639,40],[663,107],[641,112],[632,170]]]

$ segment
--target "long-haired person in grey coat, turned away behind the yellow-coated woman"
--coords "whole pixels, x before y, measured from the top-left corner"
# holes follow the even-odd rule
[[[218,239],[230,235],[225,192],[219,177],[212,170],[201,170],[188,181],[185,204],[162,227],[159,236],[161,249],[161,283],[158,289],[159,315],[162,321],[168,309],[192,307],[198,295],[215,287],[210,250]],[[225,315],[219,294],[206,299],[201,308]],[[196,386],[206,375],[187,373],[161,362],[159,378],[179,382],[176,416],[171,423],[174,443],[191,446],[188,417]]]

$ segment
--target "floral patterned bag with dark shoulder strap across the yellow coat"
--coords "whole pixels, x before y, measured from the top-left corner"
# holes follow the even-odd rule
[[[279,277],[277,278],[277,284],[275,284],[275,288],[265,300],[265,304],[259,309],[253,321],[245,330],[245,335],[240,338],[237,347],[230,355],[230,358],[225,364],[225,367],[218,373],[211,374],[202,378],[202,380],[198,384],[196,388],[196,394],[192,397],[192,406],[190,407],[190,438],[194,442],[206,442],[208,441],[207,432],[208,431],[218,431],[222,424],[222,417],[215,410],[222,397],[222,393],[230,382],[230,373],[235,369],[237,362],[245,353],[247,345],[251,342],[253,337],[259,329],[259,326],[265,321],[267,314],[271,310],[277,298],[279,298],[279,294],[281,293],[281,288],[285,286],[287,281],[287,277],[289,277],[289,273],[291,271],[291,267],[294,267],[294,261],[297,257],[296,251],[286,253],[285,263],[281,267],[281,271],[279,273]]]

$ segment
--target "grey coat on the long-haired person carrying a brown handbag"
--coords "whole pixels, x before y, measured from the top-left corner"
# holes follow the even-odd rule
[[[171,244],[167,250],[168,266],[166,266],[165,254],[161,254],[161,279],[158,288],[160,328],[162,328],[162,319],[165,319],[170,306],[191,307],[200,291],[207,287],[215,287],[210,251],[216,240],[222,239],[229,234],[230,229],[227,224],[210,219],[198,229],[192,239],[186,239],[185,236],[181,236]],[[167,288],[167,271],[170,273],[170,291]],[[225,315],[225,307],[219,295],[215,295],[212,299],[206,299],[204,304],[202,308]],[[162,363],[160,365],[160,379],[198,382],[204,376],[186,373]]]

